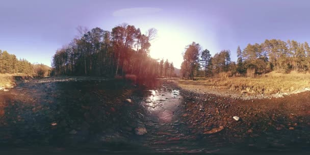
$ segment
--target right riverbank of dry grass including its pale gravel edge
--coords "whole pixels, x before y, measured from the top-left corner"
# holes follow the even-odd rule
[[[197,81],[176,80],[178,86],[243,100],[283,97],[310,90],[310,74],[270,72],[259,77],[212,77]]]

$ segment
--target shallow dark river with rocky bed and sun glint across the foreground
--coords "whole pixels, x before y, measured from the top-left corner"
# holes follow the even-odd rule
[[[6,152],[307,154],[308,96],[241,100],[169,79],[45,78],[0,92],[0,143]]]

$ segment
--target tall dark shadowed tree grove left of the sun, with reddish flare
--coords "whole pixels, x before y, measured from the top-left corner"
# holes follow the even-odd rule
[[[149,56],[150,42],[157,36],[156,29],[143,34],[134,25],[123,23],[112,31],[82,27],[77,30],[80,36],[58,49],[53,57],[56,75],[113,77],[133,74],[139,78],[171,75],[172,63],[158,62]]]

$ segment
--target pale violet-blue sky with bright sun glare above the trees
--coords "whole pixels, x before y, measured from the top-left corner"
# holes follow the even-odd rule
[[[236,61],[238,45],[265,39],[310,42],[310,1],[2,1],[0,49],[31,63],[50,66],[55,51],[77,36],[81,25],[111,31],[128,23],[146,32],[158,30],[150,56],[180,68],[193,41],[212,56],[222,49]]]

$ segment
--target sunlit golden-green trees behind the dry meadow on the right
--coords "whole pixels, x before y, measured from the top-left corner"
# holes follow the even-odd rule
[[[237,48],[237,63],[230,60],[230,50],[221,50],[213,57],[208,49],[202,51],[198,43],[186,46],[180,72],[184,79],[194,80],[195,76],[212,77],[249,76],[273,70],[289,73],[310,72],[310,47],[307,42],[295,40],[266,39],[259,44],[248,44],[243,50]]]

